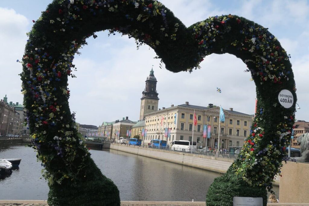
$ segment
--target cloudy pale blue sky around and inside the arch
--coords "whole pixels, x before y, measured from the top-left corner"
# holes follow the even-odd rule
[[[0,97],[22,103],[21,59],[32,20],[40,17],[51,0],[0,1]],[[297,120],[309,121],[309,3],[289,0],[161,0],[186,26],[215,15],[239,15],[269,28],[287,53],[291,54],[298,104]],[[234,108],[247,114],[254,113],[255,85],[246,65],[230,54],[210,55],[201,62],[201,69],[192,74],[173,74],[159,68],[155,52],[144,45],[138,50],[133,39],[119,34],[108,37],[98,32],[98,38],[88,39],[74,64],[77,78],[69,79],[71,111],[77,122],[99,126],[103,121],[114,121],[129,116],[139,119],[140,98],[145,80],[153,65],[158,80],[159,108],[190,104],[207,106],[209,103]],[[222,93],[216,97],[216,88]]]

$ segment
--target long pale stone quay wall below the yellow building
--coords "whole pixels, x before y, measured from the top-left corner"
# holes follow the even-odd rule
[[[192,166],[204,170],[210,170],[213,172],[218,172],[220,174],[226,173],[227,169],[235,160],[200,154],[183,153],[171,150],[152,149],[147,147],[138,147],[132,145],[128,146],[121,144],[111,144],[110,149],[164,160],[167,162],[174,162],[181,165]],[[280,176],[276,176],[275,185],[279,185],[279,183]]]

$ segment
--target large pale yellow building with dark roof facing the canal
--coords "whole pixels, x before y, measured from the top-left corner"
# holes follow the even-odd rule
[[[194,111],[197,126],[193,127]],[[233,108],[223,110],[225,122],[220,123],[219,128],[219,111],[220,107],[213,107],[212,104],[209,104],[208,107],[201,107],[186,102],[185,104],[171,105],[169,108],[163,107],[158,111],[148,113],[145,115],[145,129],[147,129],[145,143],[153,139],[161,139],[170,144],[173,140],[192,141],[193,137],[193,141],[197,142],[198,147],[205,147],[206,138],[203,138],[203,128],[204,125],[210,125],[211,134],[207,146],[217,147],[220,132],[219,148],[241,148],[244,138],[249,135],[253,116],[233,111]],[[169,137],[164,137],[165,128],[171,128]]]

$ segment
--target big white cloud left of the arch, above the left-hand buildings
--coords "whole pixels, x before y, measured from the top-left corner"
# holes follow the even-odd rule
[[[4,92],[11,101],[21,103],[21,81],[18,74],[22,71],[17,59],[23,57],[23,49],[27,40],[28,20],[25,16],[17,14],[13,9],[0,7],[0,71],[1,71],[1,95]],[[1,96],[2,99],[2,96]],[[9,100],[10,100],[9,99]]]

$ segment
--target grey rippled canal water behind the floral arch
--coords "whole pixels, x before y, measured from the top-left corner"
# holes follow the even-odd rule
[[[128,201],[205,201],[218,173],[117,150],[90,150],[102,173]],[[167,154],[168,155],[168,154]],[[0,158],[21,158],[19,168],[0,179],[0,200],[47,200],[49,188],[34,149],[25,145],[0,148]],[[279,196],[279,187],[275,187]]]

